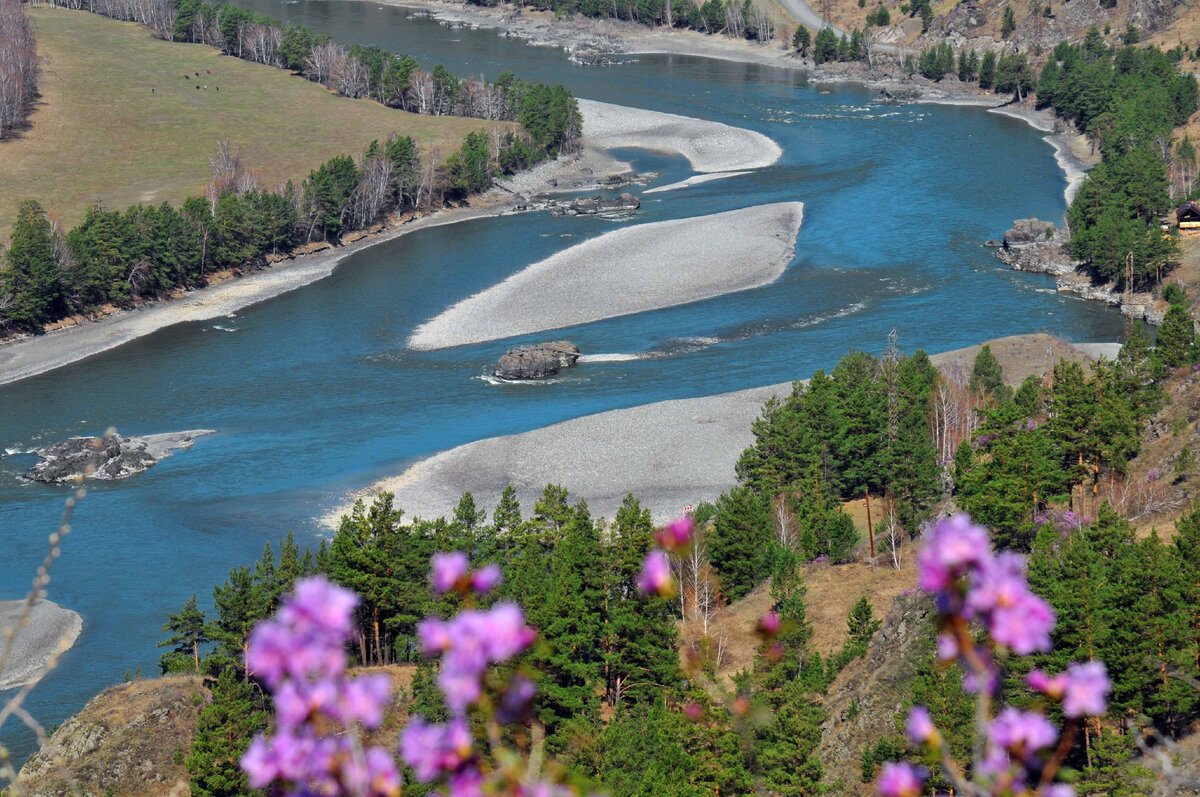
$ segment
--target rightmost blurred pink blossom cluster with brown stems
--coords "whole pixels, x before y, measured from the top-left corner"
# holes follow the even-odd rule
[[[1070,528],[1078,519],[1058,519],[1060,528],[1063,521]],[[935,597],[941,616],[938,655],[947,661],[959,660],[965,670],[964,685],[978,693],[980,712],[976,732],[984,739],[984,747],[982,759],[974,761],[974,781],[966,783],[946,757],[946,739],[924,707],[917,706],[908,714],[908,739],[940,757],[964,795],[1074,797],[1072,786],[1054,783],[1069,751],[1070,737],[1060,743],[1058,729],[1037,711],[1009,706],[994,717],[989,711],[991,693],[1000,682],[996,655],[1050,649],[1054,611],[1030,589],[1025,561],[1009,552],[992,553],[988,531],[973,525],[966,515],[935,525],[917,561],[920,587]],[[988,631],[985,643],[973,641],[972,623]],[[1105,712],[1111,688],[1100,663],[1075,664],[1056,676],[1034,670],[1027,683],[1036,691],[1061,700],[1068,723],[1076,724],[1084,717]],[[1072,725],[1068,729],[1074,732]],[[888,763],[876,786],[882,797],[918,797],[928,777],[923,767]]]

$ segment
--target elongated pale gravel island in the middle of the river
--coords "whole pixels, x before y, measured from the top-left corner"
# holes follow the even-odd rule
[[[605,233],[518,271],[421,324],[436,349],[683,305],[779,278],[804,205],[784,202]]]

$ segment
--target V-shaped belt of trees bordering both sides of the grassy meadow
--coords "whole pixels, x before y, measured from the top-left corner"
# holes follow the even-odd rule
[[[192,11],[196,20],[210,13],[229,19],[230,8]],[[97,10],[116,14],[113,7]],[[233,29],[238,41],[248,41],[251,28],[269,28],[281,47],[288,44],[269,62],[296,65],[311,79],[336,83],[342,66],[349,65],[361,72],[364,97],[434,115],[515,120],[520,127],[492,125],[468,133],[449,154],[420,151],[412,137],[398,132],[280,187],[260,186],[253,164],[221,142],[210,160],[204,196],[179,206],[97,205],[70,230],[61,229],[36,200],[23,202],[0,262],[0,329],[38,332],[47,323],[106,305],[128,306],[178,288],[202,287],[215,271],[256,268],[311,241],[337,244],[390,214],[427,212],[462,202],[491,187],[497,175],[570,151],[578,139],[578,109],[560,85],[528,83],[511,73],[494,83],[461,80],[444,67],[425,72],[412,58],[379,48],[352,48],[348,54],[306,29],[284,31],[258,18],[239,19]],[[319,74],[305,66],[313,62],[323,65]]]

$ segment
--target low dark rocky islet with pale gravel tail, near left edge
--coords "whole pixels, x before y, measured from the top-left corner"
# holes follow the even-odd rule
[[[37,449],[41,461],[25,473],[25,478],[47,484],[126,479],[167,459],[176,449],[191,448],[197,437],[211,433],[211,429],[193,429],[143,437],[122,437],[116,432],[103,437],[71,437]]]

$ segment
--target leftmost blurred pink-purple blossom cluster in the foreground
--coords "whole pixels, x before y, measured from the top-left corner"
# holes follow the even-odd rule
[[[359,739],[383,721],[391,695],[386,676],[347,673],[346,642],[358,598],[322,577],[296,582],[274,619],[250,637],[246,669],[275,696],[276,729],[258,736],[241,759],[253,789],[281,793],[394,797],[392,756]]]

